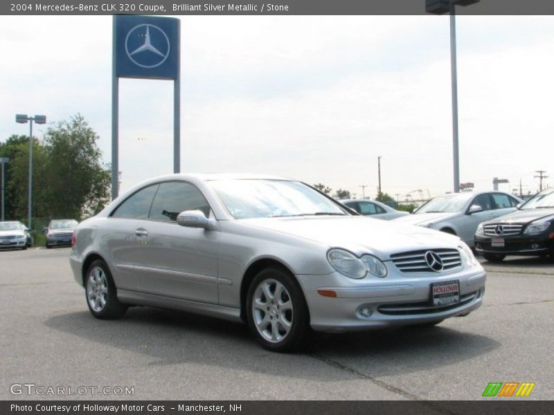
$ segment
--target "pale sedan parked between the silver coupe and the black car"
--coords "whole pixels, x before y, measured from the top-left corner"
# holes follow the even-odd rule
[[[460,237],[470,247],[479,223],[517,209],[521,199],[503,192],[464,192],[431,199],[410,216],[395,221],[442,230]]]

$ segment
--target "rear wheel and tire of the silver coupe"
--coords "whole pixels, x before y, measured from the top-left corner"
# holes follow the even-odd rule
[[[85,277],[84,295],[92,315],[102,320],[121,317],[127,306],[119,302],[117,288],[105,261],[96,259]]]

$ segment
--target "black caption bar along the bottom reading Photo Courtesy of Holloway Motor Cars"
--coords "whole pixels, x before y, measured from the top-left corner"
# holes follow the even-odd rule
[[[135,414],[233,414],[233,415],[519,415],[554,414],[550,401],[2,401],[6,415],[135,415]]]

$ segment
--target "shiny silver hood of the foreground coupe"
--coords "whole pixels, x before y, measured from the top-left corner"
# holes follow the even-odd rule
[[[398,252],[457,248],[460,243],[458,237],[444,232],[363,216],[243,219],[240,222],[310,239],[330,248],[344,248],[357,255],[370,253],[383,260]]]

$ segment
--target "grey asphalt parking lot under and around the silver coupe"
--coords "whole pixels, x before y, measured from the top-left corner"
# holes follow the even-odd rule
[[[475,400],[488,382],[535,382],[554,397],[554,263],[508,259],[488,269],[483,307],[434,329],[317,335],[305,353],[261,349],[246,326],[130,308],[94,319],[69,248],[0,252],[0,399],[13,384],[134,387],[83,399]],[[91,390],[91,389],[89,389]],[[488,398],[490,399],[490,398]]]

